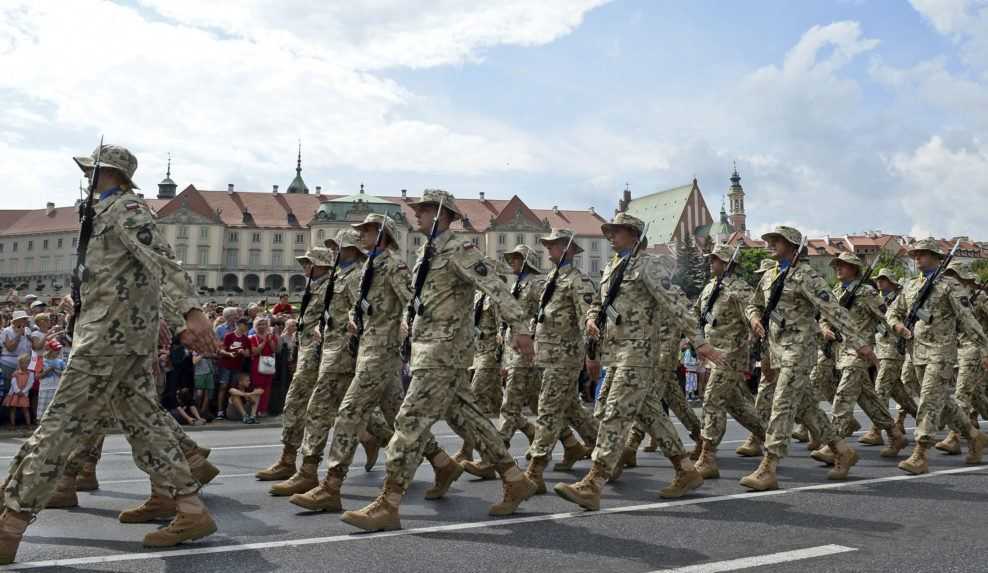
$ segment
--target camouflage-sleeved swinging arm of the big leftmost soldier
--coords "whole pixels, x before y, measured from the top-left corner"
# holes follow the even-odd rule
[[[171,245],[154,223],[151,209],[139,197],[122,197],[110,211],[119,221],[119,238],[124,247],[147,269],[151,280],[161,285],[162,298],[171,304],[162,305],[163,317],[176,332],[185,327],[185,317],[199,308],[193,302],[195,288],[192,280],[175,260]],[[167,315],[165,314],[167,313]]]

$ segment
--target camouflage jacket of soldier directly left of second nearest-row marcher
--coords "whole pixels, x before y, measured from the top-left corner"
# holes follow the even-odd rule
[[[365,261],[364,265],[369,261]],[[401,344],[399,329],[402,313],[412,299],[411,275],[404,261],[392,255],[391,251],[384,250],[374,258],[373,264],[374,280],[367,291],[370,307],[364,310],[364,333],[357,351],[358,365],[368,360],[397,358]],[[360,298],[364,265],[357,269],[353,280],[347,281],[350,297],[354,301]],[[350,318],[353,318],[353,310],[350,311]]]

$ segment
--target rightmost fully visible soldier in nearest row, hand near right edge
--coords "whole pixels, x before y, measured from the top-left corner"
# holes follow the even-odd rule
[[[936,240],[923,239],[909,249],[909,256],[916,260],[922,274],[905,285],[888,312],[895,331],[911,341],[912,365],[920,382],[916,446],[909,459],[899,463],[899,469],[911,474],[929,471],[927,450],[934,443],[941,415],[952,430],[968,439],[967,463],[979,464],[988,445],[988,436],[971,424],[949,389],[957,361],[958,338],[961,335],[970,337],[982,352],[982,366],[988,368],[988,358],[984,358],[988,337],[971,311],[970,298],[957,279],[950,275],[944,275],[933,285],[933,292],[921,307],[920,320],[913,330],[910,332],[905,327],[914,301],[944,254]]]

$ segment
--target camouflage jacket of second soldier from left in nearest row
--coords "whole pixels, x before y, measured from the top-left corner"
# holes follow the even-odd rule
[[[526,316],[497,277],[494,261],[484,257],[471,241],[446,231],[436,237],[433,248],[422,306],[412,326],[411,366],[465,369],[473,355],[474,290],[492,299],[510,327],[524,329]],[[424,249],[425,245],[419,249],[419,260]]]

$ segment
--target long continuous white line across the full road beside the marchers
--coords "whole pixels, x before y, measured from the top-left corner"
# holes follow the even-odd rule
[[[922,475],[903,474],[883,478],[871,478],[863,480],[852,480],[843,482],[830,482],[823,484],[794,487],[792,489],[778,489],[773,491],[736,493],[730,495],[718,495],[711,497],[696,497],[675,501],[661,501],[657,503],[645,503],[639,505],[626,505],[621,507],[608,507],[600,511],[568,511],[564,513],[550,513],[545,515],[529,515],[523,517],[509,517],[504,519],[490,519],[486,521],[474,521],[467,523],[452,523],[447,525],[435,525],[431,527],[419,527],[414,529],[401,529],[398,531],[381,531],[377,533],[352,533],[346,535],[333,535],[329,537],[311,537],[305,539],[286,539],[283,541],[267,541],[261,543],[245,543],[235,545],[219,545],[214,547],[196,547],[189,549],[177,549],[171,551],[146,552],[146,553],[122,553],[114,555],[103,555],[93,557],[78,557],[72,559],[52,559],[48,561],[28,561],[25,563],[15,563],[13,565],[0,566],[0,571],[21,571],[26,569],[40,569],[42,567],[72,567],[77,565],[97,565],[104,563],[117,563],[122,561],[146,561],[149,559],[168,559],[172,557],[189,557],[196,555],[211,555],[218,553],[234,553],[239,551],[255,551],[259,549],[277,549],[283,547],[301,547],[304,545],[325,545],[329,543],[344,543],[349,541],[368,541],[385,537],[405,537],[408,535],[425,535],[429,533],[441,533],[447,531],[464,531],[469,529],[482,529],[489,527],[504,527],[506,525],[516,525],[522,523],[539,523],[544,521],[561,521],[564,519],[593,518],[600,515],[612,515],[620,513],[633,513],[639,511],[653,511],[656,509],[669,509],[687,505],[700,505],[718,503],[721,501],[757,500],[763,497],[774,497],[778,495],[790,495],[802,492],[824,491],[829,489],[844,489],[848,487],[868,486],[885,482],[911,481],[928,479],[951,474],[963,474],[976,471],[984,471],[985,466],[967,466],[940,470]],[[703,571],[700,569],[699,571]]]

